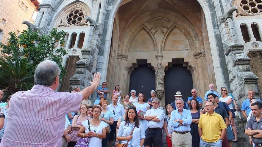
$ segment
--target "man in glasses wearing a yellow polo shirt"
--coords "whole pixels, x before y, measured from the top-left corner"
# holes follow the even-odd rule
[[[205,110],[207,113],[200,116],[198,123],[200,147],[222,147],[227,126],[222,116],[214,112],[212,102],[205,103]]]

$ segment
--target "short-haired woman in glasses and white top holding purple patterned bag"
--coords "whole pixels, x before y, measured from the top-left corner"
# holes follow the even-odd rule
[[[90,121],[86,120],[82,122],[82,127],[77,133],[78,137],[91,137],[89,140],[89,146],[102,146],[102,139],[106,137],[106,127],[107,124],[99,119],[102,112],[101,107],[94,106],[93,108],[93,118]],[[90,127],[90,131],[89,131]],[[85,132],[85,133],[84,133]]]

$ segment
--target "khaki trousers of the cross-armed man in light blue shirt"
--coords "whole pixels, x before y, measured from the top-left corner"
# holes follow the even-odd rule
[[[173,132],[171,140],[173,147],[192,147],[192,135],[190,132],[185,134]]]

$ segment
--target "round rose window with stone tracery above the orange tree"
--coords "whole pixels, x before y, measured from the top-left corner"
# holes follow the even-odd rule
[[[68,23],[69,26],[77,26],[79,23],[82,23],[85,18],[85,12],[81,9],[74,9],[71,10],[66,15],[66,23]]]

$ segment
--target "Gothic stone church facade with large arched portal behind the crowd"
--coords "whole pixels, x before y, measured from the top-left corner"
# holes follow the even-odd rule
[[[249,89],[260,97],[261,0],[43,0],[39,7],[41,33],[68,32],[60,91],[84,88],[101,72],[109,91],[118,84],[122,93],[149,96],[148,86],[162,106],[176,91],[190,96],[196,88],[204,97],[209,83],[219,94],[230,89],[238,108]]]

